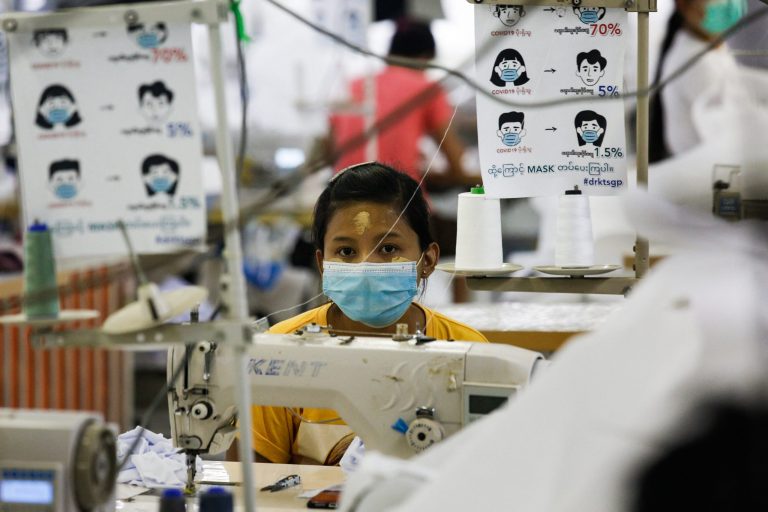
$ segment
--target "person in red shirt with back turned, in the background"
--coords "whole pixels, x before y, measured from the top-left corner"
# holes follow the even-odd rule
[[[406,57],[425,64],[435,58],[435,39],[429,24],[401,20],[389,47],[390,57]],[[463,146],[453,130],[448,129],[453,108],[445,91],[429,80],[423,70],[387,66],[375,78],[376,116],[382,123],[376,133],[376,160],[403,170],[417,182],[425,169],[419,143],[425,136],[440,147],[448,161],[444,174],[431,173],[427,184],[438,186],[472,186],[478,176],[464,173],[461,164]],[[365,78],[349,85],[351,102],[362,107],[365,101]],[[334,169],[338,172],[350,165],[369,160],[365,157],[366,140],[362,137],[365,121],[362,115],[333,114],[330,117],[330,140],[337,157]]]

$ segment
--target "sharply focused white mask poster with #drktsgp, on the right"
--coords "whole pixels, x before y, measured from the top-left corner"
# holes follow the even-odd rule
[[[623,9],[475,6],[477,130],[489,196],[627,187],[624,105],[615,99],[626,21]],[[582,101],[529,106],[563,98]]]

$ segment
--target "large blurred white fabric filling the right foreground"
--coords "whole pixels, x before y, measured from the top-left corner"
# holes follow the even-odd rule
[[[343,510],[629,510],[638,473],[696,425],[698,405],[765,385],[765,226],[647,195],[630,205],[639,232],[675,256],[504,408],[411,461],[367,454]]]

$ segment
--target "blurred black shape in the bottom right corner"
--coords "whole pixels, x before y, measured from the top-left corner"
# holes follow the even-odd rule
[[[690,430],[639,468],[629,510],[768,509],[768,408],[711,400],[693,411]]]

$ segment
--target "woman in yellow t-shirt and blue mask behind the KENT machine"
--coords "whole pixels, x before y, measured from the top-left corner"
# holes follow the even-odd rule
[[[402,214],[401,214],[402,212]],[[312,235],[330,302],[281,322],[292,333],[315,322],[338,333],[395,332],[408,324],[443,340],[487,341],[476,330],[413,302],[434,271],[440,248],[418,184],[379,163],[337,174],[315,205]],[[354,437],[335,411],[253,407],[257,460],[335,465]]]

